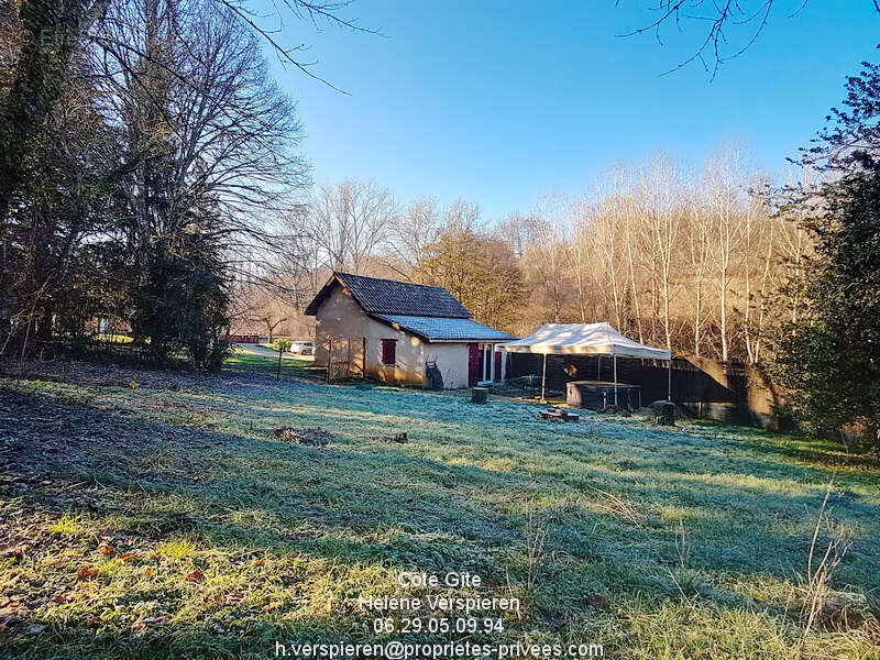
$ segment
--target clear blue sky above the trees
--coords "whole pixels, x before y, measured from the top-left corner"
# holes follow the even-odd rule
[[[476,201],[492,220],[657,152],[698,167],[737,141],[780,172],[880,43],[870,0],[811,0],[787,18],[800,3],[777,0],[714,80],[698,64],[660,75],[693,52],[700,25],[668,26],[663,45],[618,36],[650,20],[653,0],[358,0],[345,15],[384,36],[296,21],[278,35],[308,44],[312,70],[348,95],[272,62],[317,183],[375,179],[402,201]]]

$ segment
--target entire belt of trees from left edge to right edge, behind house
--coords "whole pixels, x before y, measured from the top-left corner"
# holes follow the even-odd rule
[[[276,10],[364,31],[345,7]],[[722,61],[730,11],[701,59],[715,44]],[[263,25],[245,0],[0,4],[0,355],[82,358],[123,336],[128,359],[218,371],[230,328],[307,337],[301,310],[341,270],[443,286],[518,336],[609,321],[676,354],[767,361],[805,419],[878,442],[877,65],[790,172],[733,144],[698,167],[657,155],[486,218],[430,189],[315,185],[266,56],[315,74]]]

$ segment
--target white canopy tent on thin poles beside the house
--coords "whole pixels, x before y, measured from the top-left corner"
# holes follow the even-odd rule
[[[501,344],[508,353],[543,355],[541,399],[547,384],[547,355],[612,355],[614,359],[614,404],[617,405],[617,356],[669,361],[669,397],[672,398],[672,354],[641,344],[622,334],[610,323],[544,323],[524,339]]]

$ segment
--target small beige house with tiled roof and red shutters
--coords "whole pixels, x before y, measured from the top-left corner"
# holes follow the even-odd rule
[[[474,321],[444,288],[349,273],[333,273],[306,314],[317,365],[348,363],[386,383],[424,385],[428,363],[448,389],[502,378],[495,348],[516,339]]]

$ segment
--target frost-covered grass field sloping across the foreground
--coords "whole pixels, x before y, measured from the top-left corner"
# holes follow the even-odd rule
[[[220,377],[46,364],[0,378],[0,657],[381,639],[356,598],[431,593],[398,586],[404,569],[479,573],[487,586],[444,591],[521,600],[475,641],[880,657],[875,460],[716,424],[557,425],[517,402],[277,382],[239,359]],[[832,480],[834,534],[815,546],[851,544],[805,634]]]

